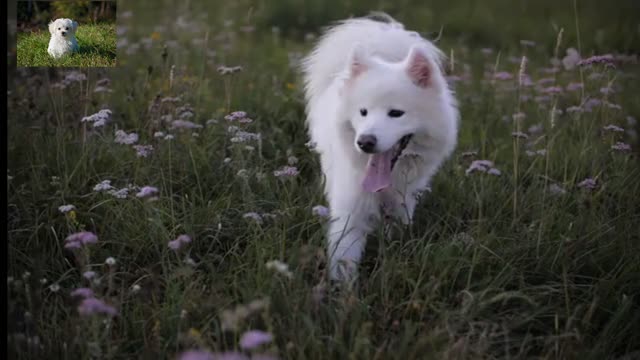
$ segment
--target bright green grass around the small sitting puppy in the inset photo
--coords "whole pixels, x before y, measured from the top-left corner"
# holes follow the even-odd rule
[[[17,66],[106,67],[116,66],[115,24],[81,24],[76,32],[79,50],[60,59],[47,53],[50,34],[18,33]]]

